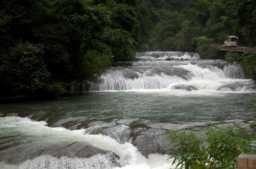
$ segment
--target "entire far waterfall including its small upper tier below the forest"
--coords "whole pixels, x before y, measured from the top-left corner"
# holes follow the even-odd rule
[[[251,84],[237,84],[244,72],[239,64],[223,60],[198,60],[199,55],[185,52],[145,52],[137,57],[144,61],[129,62],[131,66],[111,67],[103,74],[100,83],[87,82],[73,85],[77,91],[127,90],[211,90],[239,91]],[[172,59],[168,60],[167,59]],[[175,60],[173,60],[175,59]],[[186,60],[184,60],[186,59]],[[229,87],[229,84],[232,87]],[[252,89],[254,90],[254,89]]]

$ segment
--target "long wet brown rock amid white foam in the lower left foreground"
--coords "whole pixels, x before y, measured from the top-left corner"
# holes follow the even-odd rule
[[[6,161],[10,164],[16,164],[34,159],[40,155],[51,155],[53,157],[69,157],[69,158],[90,158],[96,154],[106,154],[113,166],[121,167],[120,157],[112,151],[101,150],[94,146],[90,146],[83,142],[59,143],[51,145],[38,145],[37,151],[30,150],[30,146],[26,143],[14,143],[0,147],[0,161]]]

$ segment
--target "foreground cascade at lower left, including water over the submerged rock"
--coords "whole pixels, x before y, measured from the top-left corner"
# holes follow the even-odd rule
[[[151,154],[147,159],[128,142],[121,144],[109,136],[89,134],[89,129],[70,131],[62,127],[47,127],[46,124],[43,121],[33,122],[21,117],[0,118],[0,140],[4,142],[0,149],[0,169],[120,169],[121,166],[133,169],[134,164],[141,169],[151,169],[154,165],[161,166],[161,169],[171,167],[171,161],[166,161],[168,155]],[[117,127],[112,134],[118,133],[122,128],[123,126]],[[8,138],[8,131],[12,133],[12,137],[22,136],[23,138],[14,140]],[[66,142],[69,144],[65,145]],[[65,149],[72,144],[76,145],[72,149],[67,149],[66,151],[69,152],[66,153]],[[60,145],[64,145],[62,149],[58,148]],[[85,151],[93,154],[93,151],[87,147],[83,149],[86,145],[105,151],[115,151],[120,159],[113,156],[111,152],[98,153],[89,158],[63,155],[79,154],[77,151],[80,149],[81,156]],[[11,146],[14,146],[16,151]],[[62,154],[62,156],[56,157],[56,154]]]

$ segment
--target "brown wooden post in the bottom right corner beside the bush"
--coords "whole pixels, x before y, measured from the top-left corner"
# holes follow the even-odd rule
[[[256,155],[254,154],[240,154],[237,157],[238,169],[256,169]]]

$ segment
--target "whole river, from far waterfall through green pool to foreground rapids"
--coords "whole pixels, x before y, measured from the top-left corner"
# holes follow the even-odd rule
[[[101,83],[73,85],[66,100],[1,104],[0,169],[175,168],[165,131],[254,122],[256,84],[240,65],[184,52],[137,57]]]

